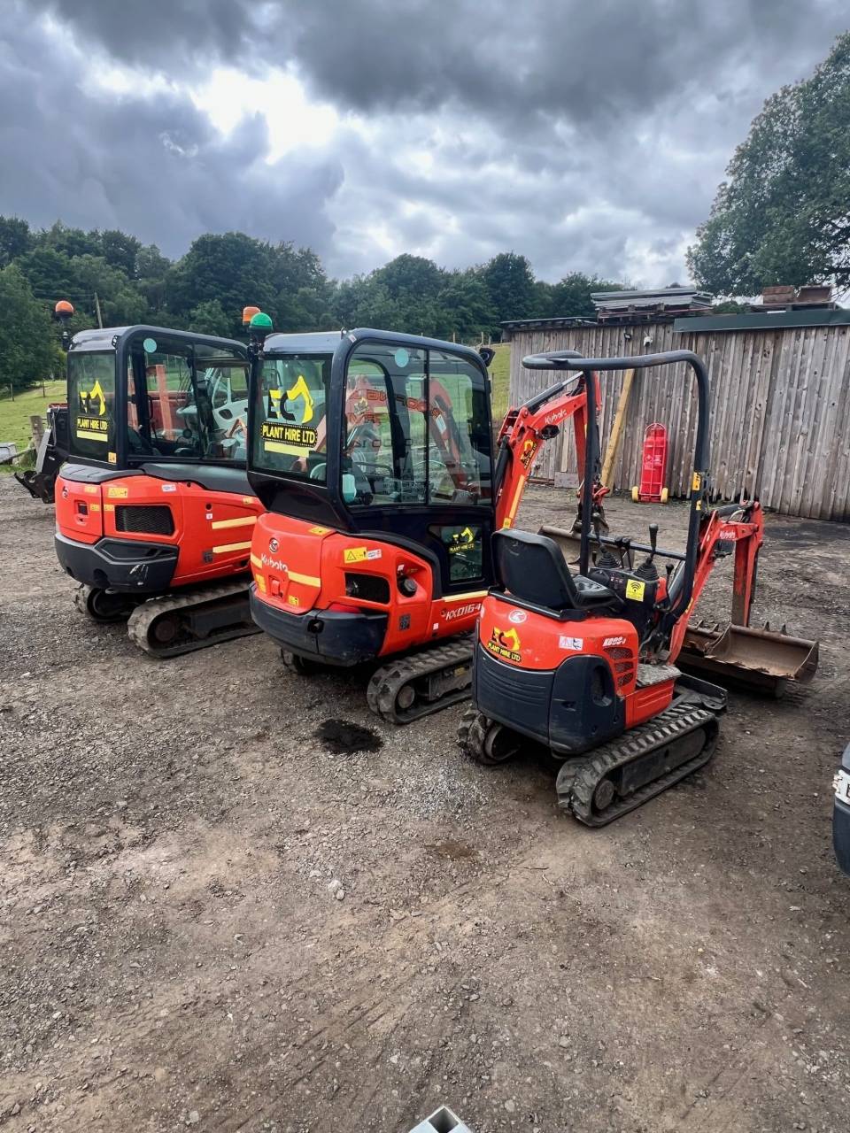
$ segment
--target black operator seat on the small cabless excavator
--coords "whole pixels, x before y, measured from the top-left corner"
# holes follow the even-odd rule
[[[516,598],[556,612],[620,610],[613,590],[584,574],[570,574],[561,548],[545,535],[501,530],[493,534],[499,585]]]

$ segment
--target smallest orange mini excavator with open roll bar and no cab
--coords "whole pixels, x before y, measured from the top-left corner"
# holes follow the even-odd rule
[[[690,367],[697,384],[683,552],[658,548],[655,525],[647,545],[603,534],[593,516],[597,393],[590,372],[668,364]],[[558,531],[494,534],[495,585],[482,605],[474,705],[459,741],[483,764],[503,763],[527,739],[537,741],[562,765],[560,804],[588,826],[604,826],[711,758],[725,693],[686,676],[677,662],[694,605],[725,555],[734,554],[734,621],[748,625],[763,514],[755,501],[709,506],[708,375],[696,355],[590,359],[561,352],[530,356],[524,365],[584,373],[588,435],[580,530],[578,539]],[[576,550],[573,572],[564,551],[571,557]],[[646,556],[638,565],[635,552]],[[656,559],[666,564],[664,576]],[[765,681],[771,672],[798,680],[814,673],[814,642],[741,632],[739,670],[749,662]]]

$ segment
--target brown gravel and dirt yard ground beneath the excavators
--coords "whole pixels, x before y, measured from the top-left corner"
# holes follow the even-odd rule
[[[609,518],[681,545],[681,506]],[[590,832],[532,758],[465,761],[459,707],[393,729],[262,636],[150,661],[52,521],[0,479],[3,1133],[847,1130],[849,528],[768,521],[757,614],[815,682],[733,696],[703,774]]]

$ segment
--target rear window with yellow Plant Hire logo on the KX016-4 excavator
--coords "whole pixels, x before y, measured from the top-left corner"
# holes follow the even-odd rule
[[[325,484],[331,355],[266,358],[254,391],[253,467]]]

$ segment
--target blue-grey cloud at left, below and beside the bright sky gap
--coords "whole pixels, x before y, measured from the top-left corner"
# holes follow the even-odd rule
[[[17,28],[0,41],[0,212],[122,228],[170,255],[222,229],[326,245],[324,207],[342,179],[333,155],[281,170],[264,161],[261,116],[222,138],[175,91],[86,94],[96,60],[37,24]]]

